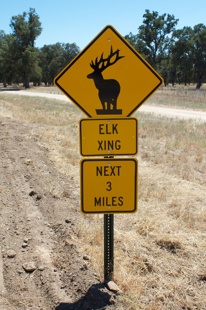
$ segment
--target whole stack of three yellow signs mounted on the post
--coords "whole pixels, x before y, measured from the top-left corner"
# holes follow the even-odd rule
[[[79,121],[80,154],[104,157],[80,162],[82,213],[136,212],[138,162],[119,156],[137,154],[138,120],[130,116],[162,85],[162,78],[108,25],[54,83],[89,117]]]

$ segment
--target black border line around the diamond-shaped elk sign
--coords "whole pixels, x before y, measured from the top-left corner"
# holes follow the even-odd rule
[[[158,80],[160,81],[159,82],[159,84],[152,90],[152,91],[150,91],[150,93],[139,103],[139,104],[137,104],[137,106],[128,114],[128,115],[126,115],[126,117],[129,117],[129,116],[131,116],[152,94],[153,94],[153,92],[154,91],[156,91],[158,88],[159,88],[159,86],[161,86],[162,85],[162,78],[160,78],[159,76],[158,76],[158,74],[154,71],[154,69],[153,68],[151,68],[150,66],[149,66],[149,64],[144,60],[144,59],[142,59],[138,54],[137,54],[137,51],[135,51],[132,47],[131,47],[131,45],[124,39],[124,38],[122,38],[122,36],[112,27],[112,26],[110,26],[110,25],[108,25],[108,26],[106,26],[78,55],[77,55],[77,57],[74,59],[74,60],[72,60],[69,64],[68,64],[68,66],[61,72],[61,74],[57,77],[57,78],[55,78],[55,80],[54,80],[54,84],[56,85],[56,86],[58,86],[59,87],[59,89],[61,89],[61,91],[67,96],[67,97],[69,97],[69,99],[71,100],[71,101],[73,101],[74,102],[74,104],[76,104],[77,106],[78,106],[78,108],[80,108],[80,110],[82,110],[82,112],[83,113],[85,113],[88,117],[92,117],[88,112],[86,112],[86,110],[84,109],[84,108],[82,108],[82,106],[80,105],[80,104],[78,104],[78,102],[72,97],[72,96],[70,96],[59,84],[58,84],[58,80],[62,77],[62,75],[92,46],[92,44],[94,43],[94,42],[96,42],[98,39],[99,39],[99,37],[101,37],[101,35],[107,30],[107,29],[111,29],[115,34],[116,34],[116,36],[118,37],[118,38],[120,38],[120,40],[132,51],[132,53],[134,53],[138,58],[139,58],[139,60],[141,60],[141,62],[143,62],[143,64],[145,64],[145,66],[156,76],[156,78],[158,78]],[[125,116],[123,116],[123,117],[125,117]]]

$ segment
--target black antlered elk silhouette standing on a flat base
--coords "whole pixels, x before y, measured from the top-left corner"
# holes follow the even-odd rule
[[[103,58],[103,53],[98,61],[98,57],[95,60],[95,64],[93,60],[90,63],[90,67],[94,70],[94,72],[87,75],[87,78],[91,78],[94,80],[96,88],[99,90],[99,100],[101,101],[103,109],[96,109],[97,114],[122,114],[122,110],[116,108],[117,105],[117,97],[120,93],[120,84],[114,79],[104,80],[102,76],[102,72],[107,69],[109,66],[115,64],[118,60],[125,56],[119,56],[119,49],[115,52],[111,51],[110,55],[107,58]],[[111,58],[116,55],[114,61],[110,62]],[[106,64],[105,64],[106,63]],[[105,102],[107,103],[107,109],[105,108]],[[111,104],[113,109],[111,109]]]

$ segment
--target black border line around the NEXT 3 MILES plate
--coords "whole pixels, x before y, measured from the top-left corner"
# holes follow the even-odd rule
[[[83,202],[83,192],[84,192],[84,188],[83,188],[83,164],[84,162],[108,162],[108,160],[110,162],[113,161],[133,161],[135,163],[135,184],[134,184],[134,193],[135,193],[135,197],[134,197],[134,209],[133,210],[129,210],[129,211],[108,211],[108,212],[102,212],[102,211],[84,211],[84,202]],[[138,162],[133,159],[133,158],[103,158],[103,159],[99,159],[99,158],[95,158],[95,159],[83,159],[80,162],[80,170],[81,170],[81,183],[80,183],[80,198],[81,198],[81,211],[83,214],[127,214],[127,213],[135,213],[137,211],[137,173],[138,173]]]

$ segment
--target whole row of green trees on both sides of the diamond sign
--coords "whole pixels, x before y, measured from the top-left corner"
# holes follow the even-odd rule
[[[164,78],[172,83],[206,82],[206,27],[197,24],[175,29],[174,15],[145,10],[137,34],[124,38]],[[54,78],[80,52],[76,43],[35,47],[42,32],[40,17],[34,8],[11,17],[11,34],[0,30],[0,79],[4,87],[11,82],[34,85],[53,84]]]

